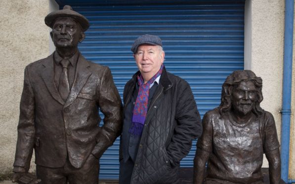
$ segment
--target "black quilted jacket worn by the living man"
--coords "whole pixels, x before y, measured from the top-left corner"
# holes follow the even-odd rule
[[[124,106],[130,102],[137,74],[126,83]],[[200,114],[189,84],[164,68],[147,112],[131,184],[177,182],[179,162],[201,134]],[[120,160],[128,156],[122,146],[127,139],[127,134],[121,136]]]

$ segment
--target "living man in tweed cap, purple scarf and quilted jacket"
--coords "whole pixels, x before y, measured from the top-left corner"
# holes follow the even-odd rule
[[[179,162],[202,132],[193,93],[166,71],[158,36],[140,36],[131,51],[139,71],[123,94],[119,183],[177,184]]]

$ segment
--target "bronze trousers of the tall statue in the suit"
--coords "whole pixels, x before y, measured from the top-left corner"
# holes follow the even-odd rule
[[[37,165],[36,173],[37,178],[41,179],[39,184],[98,184],[99,160],[90,154],[82,168],[73,167],[67,159],[60,168]]]

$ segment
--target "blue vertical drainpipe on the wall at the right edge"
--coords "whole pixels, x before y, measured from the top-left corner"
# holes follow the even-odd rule
[[[285,183],[289,175],[290,149],[290,119],[291,119],[291,92],[292,92],[292,59],[293,59],[293,23],[294,0],[285,0],[285,33],[284,33],[284,68],[283,68],[283,104],[281,127],[281,175]]]

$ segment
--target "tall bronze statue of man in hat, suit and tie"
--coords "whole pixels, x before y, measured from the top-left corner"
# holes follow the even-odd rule
[[[121,133],[121,99],[110,69],[78,50],[83,15],[66,5],[45,24],[56,50],[25,69],[12,181],[28,172],[34,148],[42,184],[97,184],[99,158]]]

